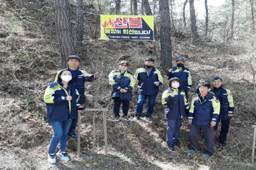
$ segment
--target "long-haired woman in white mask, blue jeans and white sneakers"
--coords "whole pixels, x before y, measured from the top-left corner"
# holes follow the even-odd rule
[[[67,133],[72,119],[77,119],[77,108],[83,107],[77,101],[79,93],[72,83],[69,70],[62,70],[58,74],[57,82],[49,84],[44,93],[47,106],[47,120],[51,123],[54,135],[48,150],[48,162],[56,163],[56,148],[60,143],[57,156],[62,160],[69,160],[66,154]]]

